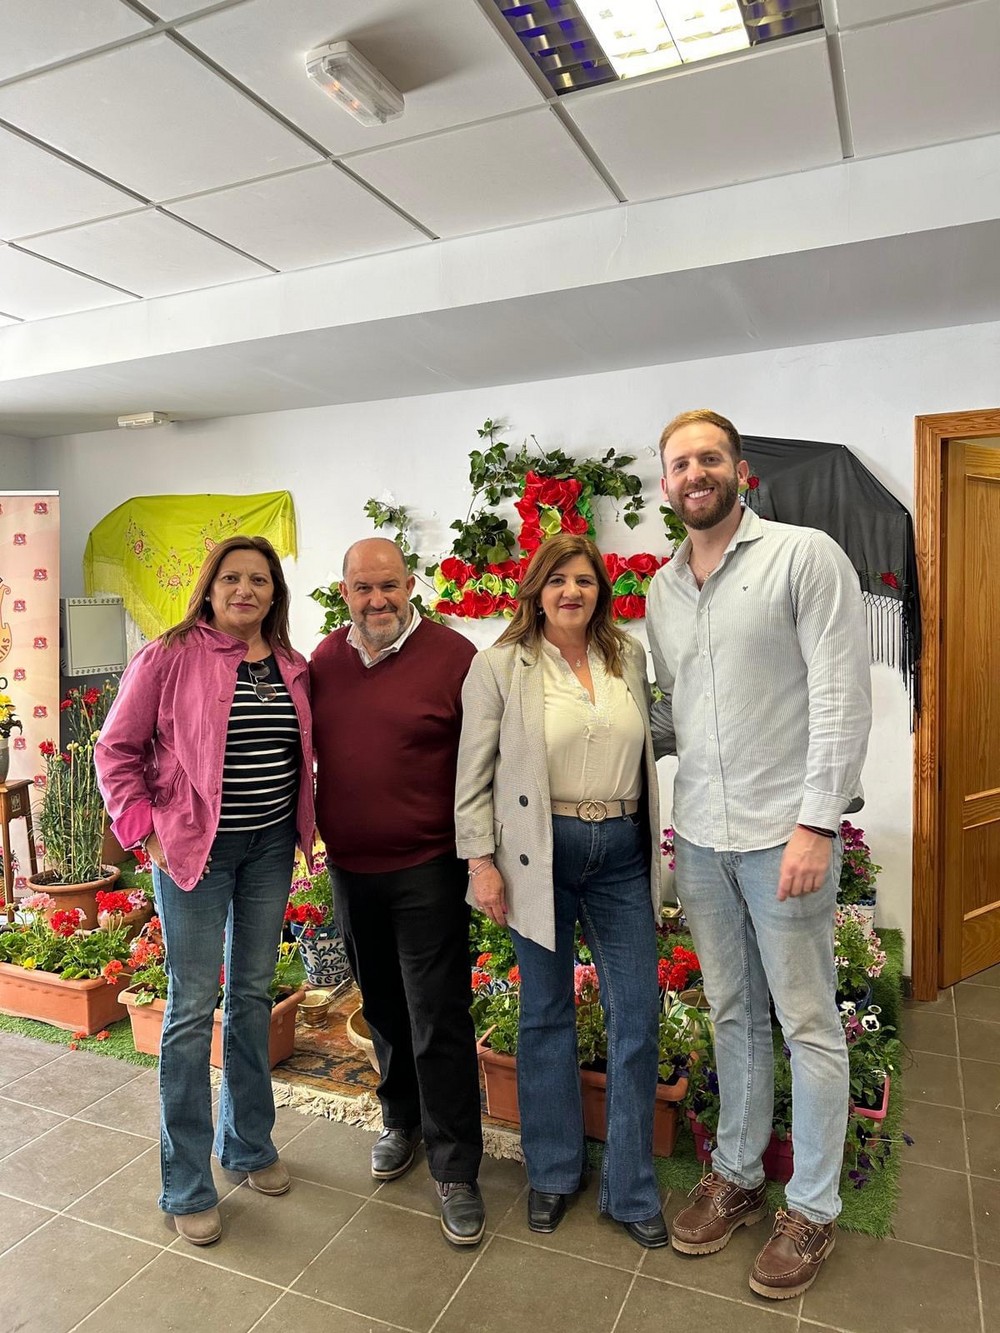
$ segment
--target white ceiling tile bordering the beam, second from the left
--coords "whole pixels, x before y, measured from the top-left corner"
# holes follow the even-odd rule
[[[39,255],[69,264],[139,296],[189,292],[268,272],[156,209],[51,232],[28,243]],[[0,307],[3,303],[0,301]]]

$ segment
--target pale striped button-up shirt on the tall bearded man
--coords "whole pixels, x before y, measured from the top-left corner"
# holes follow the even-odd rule
[[[872,718],[857,575],[824,532],[751,509],[700,589],[689,555],[687,539],[647,599],[675,828],[720,852],[779,846],[796,824],[836,829]]]

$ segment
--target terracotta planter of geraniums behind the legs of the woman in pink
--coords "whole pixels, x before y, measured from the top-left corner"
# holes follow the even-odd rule
[[[160,1054],[160,1034],[163,1016],[167,1008],[167,968],[159,917],[152,917],[132,941],[129,961],[132,981],[119,996],[119,1002],[128,1006],[132,1022],[132,1042],[136,1050],[147,1056]],[[288,1060],[295,1053],[295,1016],[299,1001],[305,994],[305,986],[299,985],[301,976],[299,945],[283,941],[275,961],[275,974],[271,980],[271,1036],[268,1056],[271,1066]],[[225,976],[219,977],[219,1004],[212,1028],[211,1062],[223,1068],[223,1005],[225,1004]]]

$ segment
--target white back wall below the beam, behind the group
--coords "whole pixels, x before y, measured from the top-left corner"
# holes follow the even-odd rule
[[[664,317],[668,317],[665,312]],[[307,653],[321,620],[307,593],[329,581],[344,548],[371,528],[369,496],[392,496],[416,520],[417,545],[447,549],[448,524],[464,516],[468,452],[485,417],[501,417],[519,441],[588,456],[615,445],[636,453],[649,511],[632,533],[608,511],[605,549],[657,549],[655,443],[675,412],[711,405],[748,435],[849,445],[912,507],[913,416],[996,405],[1000,324],[832,343],[635,371],[311,408],[43,441],[32,484],[63,492],[63,587],[83,591],[80,563],[89,529],[137,495],[289,489],[300,553],[289,567],[293,635]],[[489,643],[493,623],[475,627]],[[909,933],[911,738],[900,677],[873,672],[875,726],[860,817],[884,866],[880,920]],[[668,785],[668,784],[667,784]]]

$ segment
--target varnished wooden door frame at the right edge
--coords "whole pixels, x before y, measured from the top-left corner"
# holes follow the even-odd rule
[[[944,609],[944,468],[948,440],[1000,435],[1000,408],[915,419],[913,536],[920,580],[920,713],[913,729],[915,1000],[937,997],[941,929],[941,612]]]

